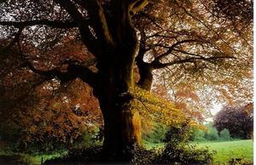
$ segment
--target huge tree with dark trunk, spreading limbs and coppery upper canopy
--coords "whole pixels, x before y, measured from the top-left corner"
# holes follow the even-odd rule
[[[104,119],[105,156],[129,159],[140,144],[136,85],[150,91],[159,70],[183,81],[204,71],[232,75],[242,68],[242,75],[252,65],[252,2],[229,2],[226,8],[214,0],[5,0],[1,58],[14,47],[19,66],[45,80],[88,83]],[[80,48],[71,52],[73,43]]]

